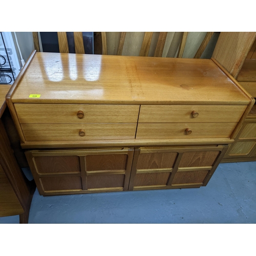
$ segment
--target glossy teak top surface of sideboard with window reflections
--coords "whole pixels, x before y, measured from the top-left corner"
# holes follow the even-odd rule
[[[39,94],[39,98],[30,98]],[[39,53],[14,103],[248,104],[210,59]]]

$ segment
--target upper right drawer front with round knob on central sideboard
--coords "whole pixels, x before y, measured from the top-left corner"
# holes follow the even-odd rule
[[[244,105],[141,105],[139,123],[239,122],[246,108]]]

